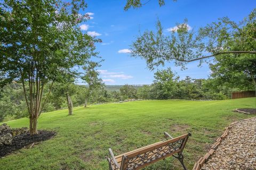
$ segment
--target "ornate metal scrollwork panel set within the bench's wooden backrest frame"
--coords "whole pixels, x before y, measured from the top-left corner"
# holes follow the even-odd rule
[[[149,150],[147,152],[138,154],[134,157],[128,158],[127,161],[127,170],[135,169],[137,167],[140,167],[142,165],[145,165],[147,163],[152,162],[153,160],[159,159],[161,157],[164,157],[166,155],[170,155],[173,152],[181,149],[182,144],[185,139],[177,140],[173,143],[167,143],[164,146],[155,148],[153,150]]]

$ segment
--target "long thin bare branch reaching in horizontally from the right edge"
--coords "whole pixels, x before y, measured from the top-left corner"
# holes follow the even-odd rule
[[[173,59],[173,60],[177,60],[177,61],[181,61],[181,62],[194,62],[194,61],[197,61],[197,60],[202,60],[202,59],[204,59],[204,58],[210,58],[210,57],[214,57],[214,56],[221,55],[221,54],[256,54],[256,52],[255,52],[255,51],[220,52],[220,53],[215,53],[215,54],[208,55],[208,56],[198,57],[198,58],[195,58],[195,59],[193,59],[193,60],[183,60],[183,59],[174,58],[174,57],[168,57],[168,56],[159,56],[159,55],[157,55],[157,56],[158,56],[158,57],[167,58],[167,59]]]

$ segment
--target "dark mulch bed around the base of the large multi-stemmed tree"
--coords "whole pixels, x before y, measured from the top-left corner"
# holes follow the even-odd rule
[[[54,135],[54,131],[38,131],[38,134],[35,135],[30,135],[29,133],[17,135],[13,138],[11,145],[0,147],[0,158],[31,143],[51,139]]]

